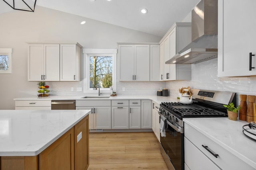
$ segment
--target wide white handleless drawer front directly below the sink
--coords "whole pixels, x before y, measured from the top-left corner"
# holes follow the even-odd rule
[[[76,106],[111,106],[111,100],[76,100]]]

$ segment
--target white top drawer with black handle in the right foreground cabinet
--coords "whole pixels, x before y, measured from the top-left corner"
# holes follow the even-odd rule
[[[236,157],[234,154],[230,153],[228,150],[221,147],[220,145],[218,145],[217,143],[215,143],[214,141],[212,141],[211,139],[209,139],[208,137],[206,137],[205,135],[203,135],[186,123],[184,124],[184,135],[191,143],[193,143],[199,150],[201,150],[201,152],[203,152],[221,169],[254,169],[246,164],[244,161],[242,161],[240,158]],[[215,158],[208,150],[204,149],[202,145],[207,146],[209,150],[211,150],[214,154],[218,154],[219,156]]]

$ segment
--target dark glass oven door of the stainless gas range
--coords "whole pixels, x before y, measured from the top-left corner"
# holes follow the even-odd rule
[[[165,158],[165,162],[168,164],[171,161],[176,170],[184,170],[184,133],[178,132],[178,129],[170,124],[168,122],[168,127],[165,129],[166,137],[160,137],[162,147],[169,159]],[[163,157],[166,157],[165,153],[162,153]]]

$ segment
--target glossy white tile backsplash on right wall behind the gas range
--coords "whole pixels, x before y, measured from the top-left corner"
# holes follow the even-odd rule
[[[182,86],[236,92],[237,104],[240,104],[240,94],[256,95],[256,77],[218,78],[218,59],[192,64],[192,80],[166,82],[166,88],[170,90],[170,96],[173,97],[178,96],[178,89]]]

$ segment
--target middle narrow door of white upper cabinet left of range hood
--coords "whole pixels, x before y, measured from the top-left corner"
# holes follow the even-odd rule
[[[170,59],[170,37],[167,36],[164,40],[164,80],[169,80],[170,64],[165,64]]]

